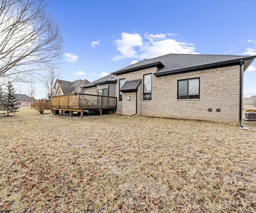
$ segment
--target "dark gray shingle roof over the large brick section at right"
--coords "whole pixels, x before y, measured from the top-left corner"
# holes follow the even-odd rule
[[[113,72],[114,75],[135,72],[150,67],[158,67],[154,75],[164,76],[197,70],[206,70],[224,66],[239,65],[240,60],[244,61],[244,71],[252,63],[256,56],[232,56],[232,55],[199,55],[199,54],[167,54],[145,59],[136,64]]]

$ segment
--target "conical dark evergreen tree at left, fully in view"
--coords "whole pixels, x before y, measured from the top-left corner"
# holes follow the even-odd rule
[[[9,113],[17,112],[18,111],[17,109],[19,108],[18,98],[14,93],[15,93],[15,89],[13,85],[11,84],[11,82],[8,82],[7,93],[4,96],[4,102],[2,106],[2,110],[7,111],[7,116],[9,116]]]

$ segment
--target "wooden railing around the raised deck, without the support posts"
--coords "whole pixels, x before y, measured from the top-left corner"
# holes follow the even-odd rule
[[[52,106],[79,109],[85,107],[116,107],[116,97],[81,93],[52,96]]]

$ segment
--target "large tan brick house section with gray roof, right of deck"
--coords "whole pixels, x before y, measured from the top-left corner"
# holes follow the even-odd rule
[[[116,113],[236,122],[243,73],[256,56],[168,54],[113,72]]]

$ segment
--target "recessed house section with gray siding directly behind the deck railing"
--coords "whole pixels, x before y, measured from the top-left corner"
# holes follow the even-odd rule
[[[108,75],[94,82],[86,84],[81,88],[84,94],[98,96],[116,96],[116,76]]]

